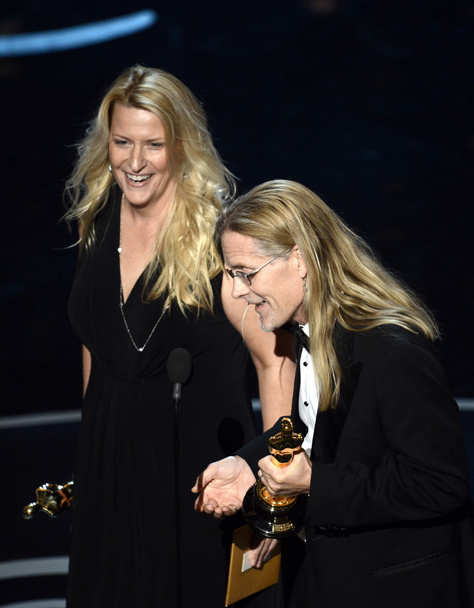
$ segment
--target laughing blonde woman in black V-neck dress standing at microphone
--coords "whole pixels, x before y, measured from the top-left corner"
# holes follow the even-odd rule
[[[197,516],[190,488],[208,461],[255,436],[239,332],[258,371],[265,427],[290,409],[292,343],[261,332],[255,312],[232,299],[214,229],[234,182],[177,78],[127,69],[78,152],[67,185],[68,218],[80,224],[69,316],[84,345],[84,404],[67,606],[176,606],[166,365],[182,347],[193,359],[180,409],[182,606],[221,608],[226,551],[241,522]]]

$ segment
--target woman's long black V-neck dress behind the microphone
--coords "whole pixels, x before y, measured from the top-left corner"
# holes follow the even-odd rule
[[[68,608],[176,606],[173,385],[167,358],[193,359],[180,406],[180,517],[183,608],[224,606],[228,548],[238,516],[216,520],[193,509],[190,489],[212,461],[255,437],[245,389],[246,352],[222,309],[187,318],[176,305],[148,342],[134,348],[120,312],[120,198],[96,222],[91,254],[80,257],[69,316],[91,351],[92,370],[74,471],[74,527]],[[142,302],[143,277],[124,313],[145,344],[162,302]],[[271,589],[254,596],[257,606]],[[247,602],[246,602],[247,605]]]

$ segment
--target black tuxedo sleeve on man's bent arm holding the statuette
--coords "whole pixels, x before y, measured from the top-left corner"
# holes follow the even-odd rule
[[[469,496],[458,406],[440,362],[425,348],[402,342],[382,353],[377,365],[373,381],[390,453],[369,465],[314,463],[311,525],[429,519],[451,513]]]

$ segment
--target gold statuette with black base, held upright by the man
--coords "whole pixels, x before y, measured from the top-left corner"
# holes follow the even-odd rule
[[[303,435],[293,432],[290,418],[281,421],[281,432],[270,437],[272,464],[288,466],[303,443]],[[307,496],[271,496],[261,480],[247,491],[242,513],[247,525],[263,536],[284,538],[303,528]]]

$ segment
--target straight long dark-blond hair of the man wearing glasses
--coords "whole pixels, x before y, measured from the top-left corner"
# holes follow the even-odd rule
[[[281,180],[253,188],[221,213],[217,232],[226,230],[254,238],[264,255],[287,255],[295,245],[300,249],[307,268],[304,309],[320,410],[335,407],[340,392],[336,322],[349,331],[394,323],[431,340],[438,337],[421,300],[303,185]]]

